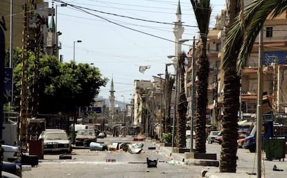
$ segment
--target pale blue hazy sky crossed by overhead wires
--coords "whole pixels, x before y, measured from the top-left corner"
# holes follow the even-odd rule
[[[175,55],[173,22],[176,20],[178,0],[45,0],[57,6],[57,30],[63,61],[90,63],[110,80],[101,87],[98,97],[109,99],[110,81],[114,81],[116,101],[130,103],[134,94],[134,80],[153,81],[164,73],[168,55]],[[210,27],[225,6],[225,0],[211,0]],[[182,39],[198,37],[198,27],[189,0],[180,0],[184,33]],[[82,41],[81,43],[74,41]],[[191,41],[182,45],[189,51]],[[150,66],[139,72],[139,66]],[[172,73],[173,68],[168,67]]]

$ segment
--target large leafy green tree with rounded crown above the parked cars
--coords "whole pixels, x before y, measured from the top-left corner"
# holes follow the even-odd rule
[[[33,79],[33,60],[29,57],[29,79]],[[56,57],[40,58],[39,112],[55,114],[74,111],[79,106],[89,106],[98,95],[99,88],[105,86],[107,78],[102,78],[98,68],[87,63],[60,63]],[[29,88],[32,81],[29,80]],[[21,90],[21,63],[14,70],[15,104],[19,106]],[[29,92],[31,93],[31,92]],[[31,102],[31,101],[30,101]]]

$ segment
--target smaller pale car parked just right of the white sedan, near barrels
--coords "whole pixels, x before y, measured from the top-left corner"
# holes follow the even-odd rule
[[[89,146],[91,142],[96,142],[96,132],[94,129],[78,130],[75,140],[76,146]]]

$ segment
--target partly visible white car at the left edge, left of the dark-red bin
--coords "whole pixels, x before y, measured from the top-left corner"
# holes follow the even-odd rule
[[[1,145],[3,148],[3,161],[20,161],[20,148],[17,146]]]

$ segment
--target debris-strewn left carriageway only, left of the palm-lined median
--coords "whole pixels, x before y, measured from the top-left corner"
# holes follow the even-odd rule
[[[132,137],[106,137],[105,142],[131,142]],[[201,166],[185,166],[172,161],[154,149],[153,143],[143,143],[144,153],[130,154],[121,150],[94,151],[73,149],[72,159],[59,159],[59,155],[44,155],[32,170],[23,171],[23,177],[199,177]],[[146,158],[158,159],[157,168],[148,168]],[[115,160],[107,161],[107,160]]]

